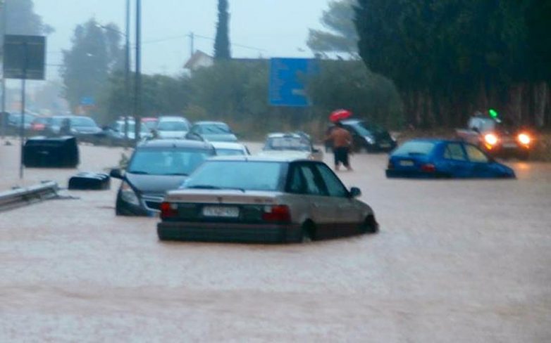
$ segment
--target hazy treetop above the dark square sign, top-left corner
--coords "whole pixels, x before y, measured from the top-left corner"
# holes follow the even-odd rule
[[[34,11],[32,0],[4,0],[1,1],[2,11],[8,8],[6,19],[6,33],[8,34],[50,34],[53,27],[44,24],[42,17]],[[3,25],[0,18],[0,25]]]

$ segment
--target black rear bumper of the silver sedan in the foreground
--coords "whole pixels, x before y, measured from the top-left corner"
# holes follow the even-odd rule
[[[204,222],[170,222],[157,224],[161,240],[201,242],[298,242],[300,226],[293,224],[228,224]]]

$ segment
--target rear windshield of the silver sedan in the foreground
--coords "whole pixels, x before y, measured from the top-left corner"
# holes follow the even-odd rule
[[[278,190],[282,167],[280,162],[208,161],[183,188]]]

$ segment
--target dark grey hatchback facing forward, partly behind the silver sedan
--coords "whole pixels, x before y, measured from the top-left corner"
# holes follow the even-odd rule
[[[151,140],[137,145],[128,167],[111,170],[123,182],[117,193],[117,215],[153,216],[167,190],[178,188],[207,157],[211,144],[187,140]]]

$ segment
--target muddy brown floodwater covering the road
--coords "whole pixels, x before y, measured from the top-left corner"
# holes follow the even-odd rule
[[[18,153],[0,151],[6,188]],[[121,152],[81,147],[80,169]],[[385,179],[386,162],[339,174],[380,233],[305,245],[159,242],[157,219],[114,215],[116,180],[1,213],[0,342],[549,342],[551,164],[416,181]]]

